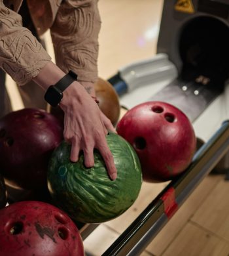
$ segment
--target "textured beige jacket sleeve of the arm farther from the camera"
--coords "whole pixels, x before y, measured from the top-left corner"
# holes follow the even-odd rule
[[[73,70],[79,81],[97,79],[98,34],[101,27],[97,0],[65,0],[51,28],[56,64]]]

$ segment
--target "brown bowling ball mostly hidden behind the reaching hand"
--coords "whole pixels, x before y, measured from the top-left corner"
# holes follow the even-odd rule
[[[118,95],[109,81],[105,81],[102,78],[98,78],[95,83],[96,97],[99,100],[99,108],[107,116],[111,123],[115,126],[120,116],[120,104]],[[58,106],[53,108],[47,106],[47,112],[56,116],[63,123],[64,113]]]

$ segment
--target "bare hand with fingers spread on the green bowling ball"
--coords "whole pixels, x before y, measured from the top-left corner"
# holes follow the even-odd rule
[[[65,113],[63,136],[71,143],[71,161],[78,161],[79,152],[83,150],[85,166],[93,167],[93,152],[94,148],[97,148],[105,161],[109,177],[115,180],[117,171],[105,139],[108,130],[115,132],[111,121],[99,110],[84,87],[76,81],[63,92],[60,107]]]

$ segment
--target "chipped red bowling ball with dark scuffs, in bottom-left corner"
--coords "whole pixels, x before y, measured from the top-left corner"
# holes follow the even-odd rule
[[[77,226],[48,203],[26,201],[1,209],[0,230],[0,255],[84,255]]]

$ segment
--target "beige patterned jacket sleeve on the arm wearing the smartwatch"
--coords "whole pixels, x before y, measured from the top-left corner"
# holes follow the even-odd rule
[[[37,76],[50,59],[41,43],[22,26],[22,17],[0,0],[0,67],[18,85],[24,85]]]

